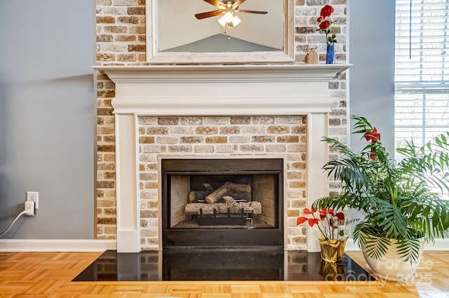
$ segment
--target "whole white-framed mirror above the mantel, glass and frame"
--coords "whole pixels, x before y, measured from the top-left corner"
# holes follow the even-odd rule
[[[177,65],[294,62],[292,1],[239,1],[241,6],[235,15],[241,22],[234,26],[220,25],[217,20],[222,14],[195,17],[220,10],[213,6],[219,2],[227,1],[147,0],[147,62]]]

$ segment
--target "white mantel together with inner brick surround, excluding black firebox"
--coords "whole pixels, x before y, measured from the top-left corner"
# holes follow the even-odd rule
[[[282,158],[283,247],[316,251],[299,210],[328,195],[328,82],[349,65],[95,67],[115,83],[119,252],[161,250],[161,159]]]

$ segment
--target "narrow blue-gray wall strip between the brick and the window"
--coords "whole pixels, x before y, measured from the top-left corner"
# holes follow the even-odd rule
[[[349,115],[368,118],[394,153],[394,9],[392,0],[348,0]],[[361,149],[351,135],[352,149]]]

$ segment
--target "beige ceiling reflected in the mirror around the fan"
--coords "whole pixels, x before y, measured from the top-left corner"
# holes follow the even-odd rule
[[[241,9],[268,13],[238,13],[241,23],[236,27],[222,27],[217,22],[220,16],[197,20],[196,13],[218,9],[203,0],[158,0],[157,7],[159,51],[207,41],[217,34],[248,41],[248,44],[283,48],[283,0],[246,0]]]

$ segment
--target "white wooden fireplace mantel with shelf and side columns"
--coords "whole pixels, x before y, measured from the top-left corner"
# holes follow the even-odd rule
[[[328,195],[328,83],[351,65],[95,66],[115,83],[117,250],[140,251],[138,116],[307,115],[307,204]],[[307,237],[313,230],[307,229]],[[161,241],[159,241],[161,243]],[[161,249],[161,247],[159,247]],[[317,251],[313,241],[307,250]]]

